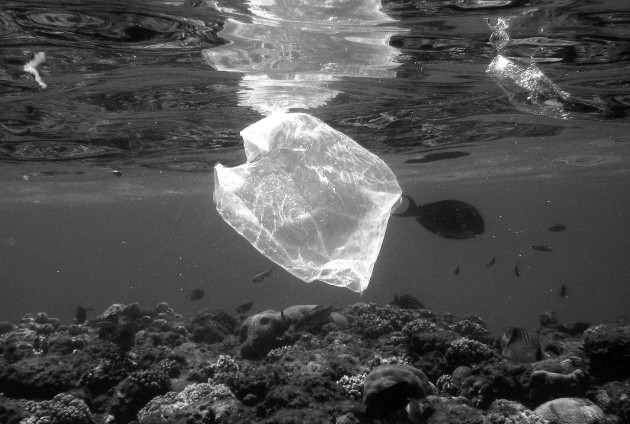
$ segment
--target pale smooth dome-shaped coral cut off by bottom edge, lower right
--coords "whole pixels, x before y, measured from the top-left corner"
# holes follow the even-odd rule
[[[534,413],[551,423],[597,424],[604,422],[604,412],[588,399],[559,398],[540,405]]]

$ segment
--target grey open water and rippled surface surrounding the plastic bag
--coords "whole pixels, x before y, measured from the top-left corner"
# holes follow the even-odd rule
[[[629,55],[612,0],[4,1],[0,319],[395,293],[494,329],[626,314]],[[393,217],[362,296],[281,270],[254,285],[269,261],[218,216],[212,169],[277,109],[378,154],[418,203],[470,203],[485,233]]]

